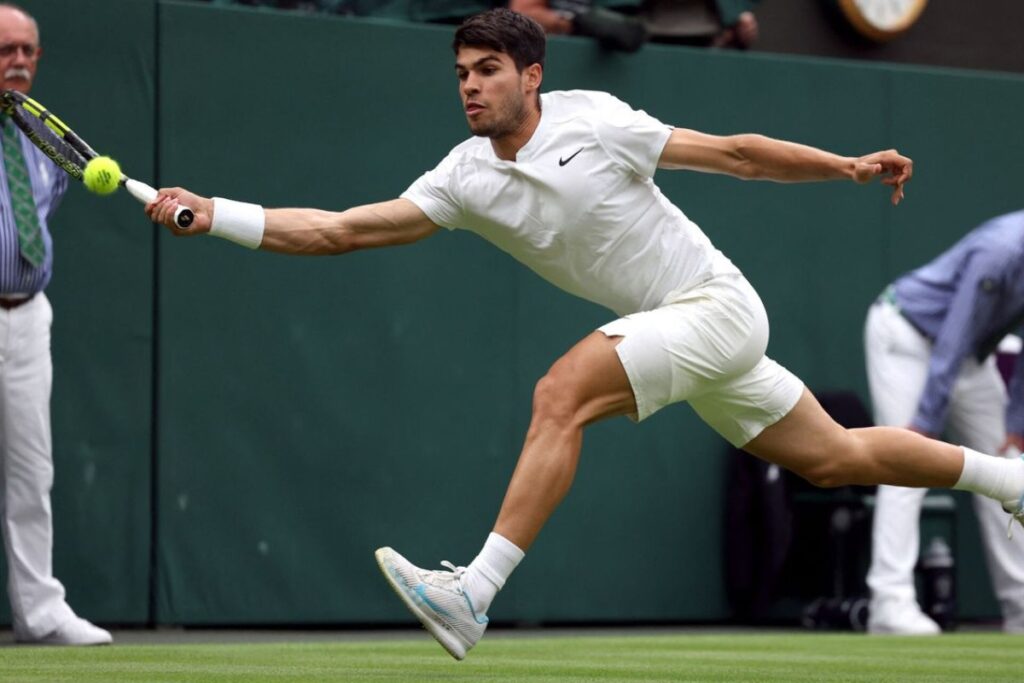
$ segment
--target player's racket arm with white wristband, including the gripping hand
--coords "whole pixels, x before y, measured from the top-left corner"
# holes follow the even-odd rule
[[[174,225],[178,205],[196,213],[185,230]],[[254,204],[211,200],[180,187],[161,189],[146,215],[174,234],[209,232],[247,247],[285,254],[344,254],[357,249],[409,244],[439,228],[409,200],[368,204],[342,212],[264,209]]]

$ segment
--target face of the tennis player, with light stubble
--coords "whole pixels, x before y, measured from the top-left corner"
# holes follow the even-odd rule
[[[512,57],[489,48],[463,47],[455,62],[466,121],[474,135],[503,137],[517,131],[527,116],[525,71]]]

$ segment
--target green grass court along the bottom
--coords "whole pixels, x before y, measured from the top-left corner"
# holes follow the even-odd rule
[[[805,632],[488,634],[465,661],[426,634],[338,641],[0,648],[7,683],[189,681],[808,681],[1018,683],[1024,637],[880,638]]]

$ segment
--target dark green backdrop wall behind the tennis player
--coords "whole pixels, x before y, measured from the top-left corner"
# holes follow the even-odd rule
[[[26,0],[35,93],[140,179],[268,206],[397,196],[466,136],[451,29],[169,0]],[[101,44],[81,47],[83,35]],[[895,274],[1019,207],[1024,80],[552,40],[549,88],[668,123],[916,162],[880,186],[689,173],[665,193],[758,287],[769,352],[865,395],[861,325]],[[126,624],[408,622],[372,551],[468,562],[497,513],[532,385],[609,313],[444,232],[344,258],[158,232],[74,187],[54,226],[55,563]],[[503,592],[517,623],[717,621],[725,443],[685,405],[592,428],[575,486]],[[994,613],[968,506],[965,613]],[[657,567],[665,583],[636,580]],[[644,574],[645,575],[645,574]],[[614,591],[607,590],[615,586]]]

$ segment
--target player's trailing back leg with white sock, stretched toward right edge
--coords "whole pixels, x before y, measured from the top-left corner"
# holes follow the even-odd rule
[[[810,391],[743,450],[819,486],[893,484],[963,488],[1020,508],[1024,465],[990,458],[898,427],[845,429]]]

